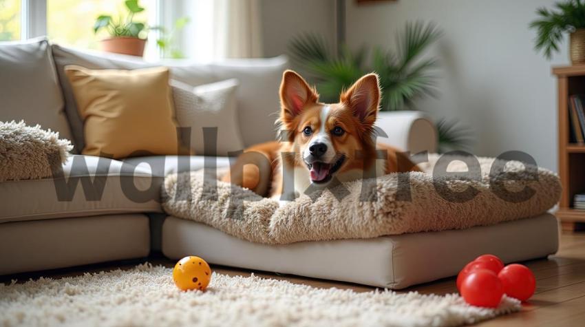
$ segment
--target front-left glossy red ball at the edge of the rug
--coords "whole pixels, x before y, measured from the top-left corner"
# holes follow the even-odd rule
[[[461,283],[461,296],[472,306],[496,308],[503,295],[504,286],[498,275],[488,269],[472,271]]]

